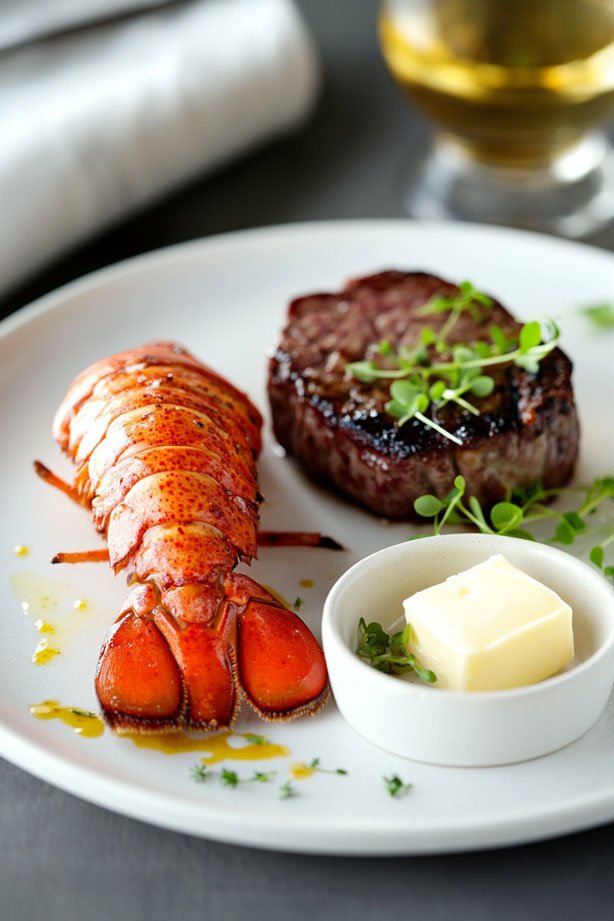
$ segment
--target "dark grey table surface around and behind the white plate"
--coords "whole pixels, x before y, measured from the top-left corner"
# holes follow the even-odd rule
[[[428,146],[381,63],[375,0],[301,0],[325,84],[297,136],[159,203],[0,303],[0,316],[100,266],[212,233],[314,219],[401,217]],[[590,242],[614,250],[614,230]],[[524,847],[438,857],[330,858],[163,831],[0,761],[0,918],[276,921],[398,913],[428,921],[612,917],[614,824]]]

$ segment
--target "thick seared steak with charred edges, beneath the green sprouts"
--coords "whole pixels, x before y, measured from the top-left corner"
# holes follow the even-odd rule
[[[425,272],[386,271],[350,281],[338,294],[312,294],[290,304],[288,323],[269,363],[275,437],[315,479],[386,518],[411,518],[424,493],[440,498],[462,474],[486,506],[515,486],[537,480],[562,486],[572,476],[579,430],[572,365],[553,350],[530,374],[513,365],[489,369],[495,389],[477,400],[480,415],[448,404],[434,416],[462,447],[417,420],[398,427],[386,412],[389,382],[365,384],[346,365],[370,357],[378,343],[395,348],[437,329],[445,314],[416,308],[458,288]],[[488,339],[491,323],[506,334],[519,324],[497,301],[481,322],[463,313],[451,343]]]

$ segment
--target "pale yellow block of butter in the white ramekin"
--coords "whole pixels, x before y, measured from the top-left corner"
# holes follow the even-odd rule
[[[494,691],[542,681],[573,659],[572,611],[497,554],[403,602],[410,649],[435,687]]]

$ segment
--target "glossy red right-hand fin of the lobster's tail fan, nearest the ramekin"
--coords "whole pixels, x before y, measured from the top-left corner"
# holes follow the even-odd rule
[[[330,695],[322,650],[303,621],[246,576],[231,576],[238,610],[239,681],[264,719],[314,714]],[[237,591],[238,589],[238,591]]]

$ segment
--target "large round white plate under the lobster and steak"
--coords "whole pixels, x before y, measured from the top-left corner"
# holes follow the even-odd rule
[[[73,375],[107,353],[160,337],[184,342],[260,405],[266,355],[290,297],[336,289],[348,277],[383,268],[426,269],[471,279],[520,317],[554,315],[576,363],[582,422],[579,479],[614,466],[613,334],[596,333],[578,312],[611,299],[611,254],[547,237],[464,224],[365,221],[248,231],[182,245],[98,272],[5,321],[0,336],[0,752],[69,792],[147,822],[223,841],[316,853],[428,853],[512,844],[587,828],[614,818],[614,703],[574,745],[505,768],[451,769],[403,761],[369,746],[330,704],[313,720],[267,726],[247,717],[239,729],[265,732],[291,757],[229,762],[247,776],[277,770],[269,784],[196,784],[197,755],[137,749],[106,732],[83,739],[57,721],[40,722],[28,705],[46,698],[95,708],[93,674],[102,638],[125,593],[123,577],[104,565],[58,572],[57,550],[96,546],[86,512],[37,480],[39,457],[67,472],[50,436],[52,414]],[[368,553],[411,533],[388,525],[309,483],[273,451],[260,464],[266,528],[321,530],[346,553],[262,551],[253,575],[291,601],[319,631],[323,600],[335,579]],[[27,544],[25,558],[13,553]],[[63,654],[43,668],[31,663],[37,640],[21,613],[11,578],[21,571],[69,584],[91,609],[69,631]],[[312,588],[299,581],[313,579]],[[376,613],[376,612],[374,612]],[[293,761],[320,758],[347,776],[296,780],[299,795],[278,790]],[[391,799],[383,776],[413,787]]]

